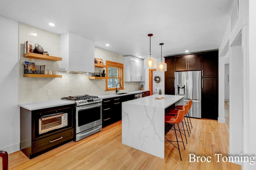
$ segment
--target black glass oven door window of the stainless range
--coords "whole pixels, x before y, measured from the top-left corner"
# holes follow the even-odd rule
[[[101,107],[78,110],[78,127],[101,119]]]

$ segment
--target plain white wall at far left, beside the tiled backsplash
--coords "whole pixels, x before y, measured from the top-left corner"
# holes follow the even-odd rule
[[[18,22],[0,16],[0,150],[20,150]]]

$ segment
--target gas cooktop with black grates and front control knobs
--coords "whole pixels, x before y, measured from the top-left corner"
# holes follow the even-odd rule
[[[83,96],[68,96],[65,98],[61,98],[62,100],[72,100],[76,103],[76,106],[82,106],[86,104],[93,104],[102,102],[102,98],[99,98],[98,96],[89,96],[88,94]]]

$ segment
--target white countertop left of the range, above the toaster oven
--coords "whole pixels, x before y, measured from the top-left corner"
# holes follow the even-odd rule
[[[50,107],[65,106],[65,105],[74,104],[74,103],[75,102],[67,101],[67,100],[50,100],[45,102],[19,104],[19,106],[32,111],[32,110],[45,109]]]

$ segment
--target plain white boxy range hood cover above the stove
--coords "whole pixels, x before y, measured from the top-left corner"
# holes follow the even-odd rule
[[[94,41],[73,33],[60,35],[60,71],[94,72]]]

